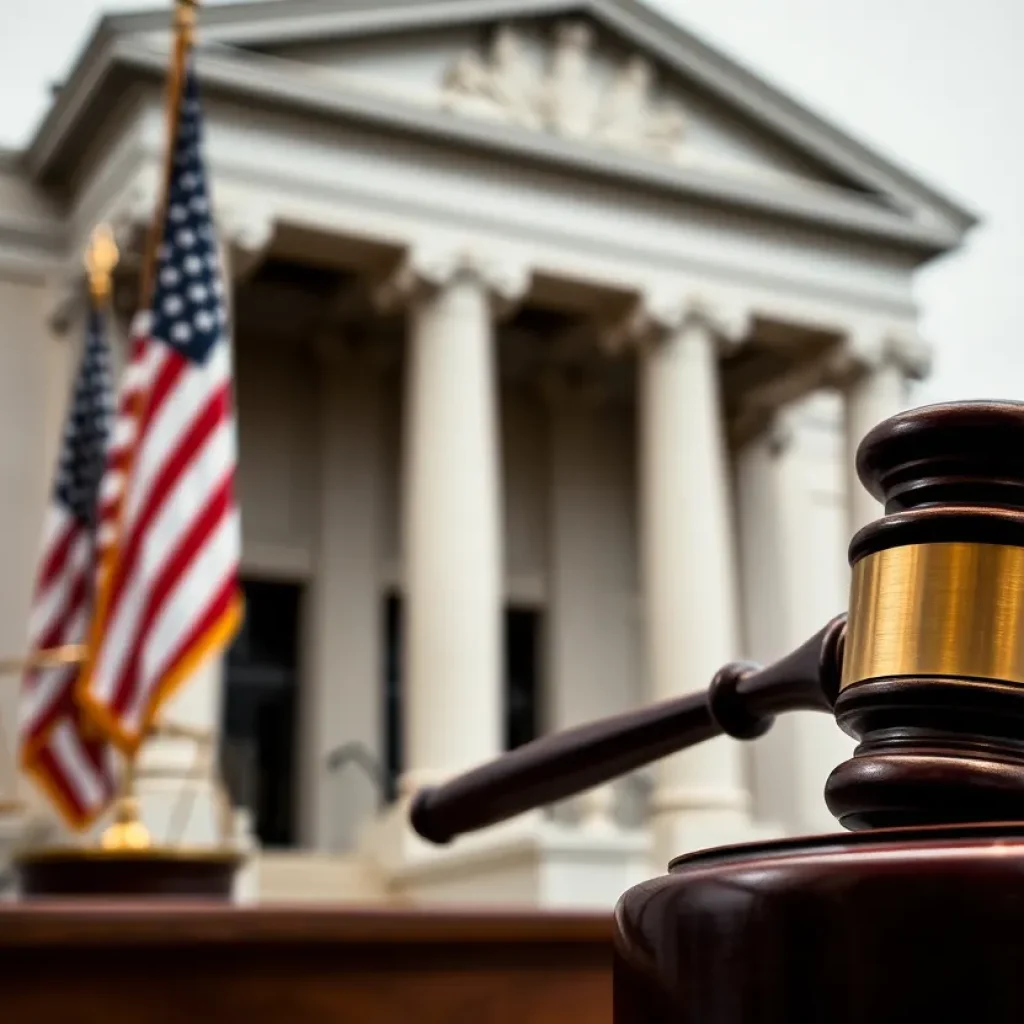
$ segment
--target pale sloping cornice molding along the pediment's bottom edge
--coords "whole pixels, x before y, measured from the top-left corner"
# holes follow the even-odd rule
[[[108,40],[76,73],[74,89],[44,122],[27,160],[32,172],[47,177],[66,152],[73,127],[82,127],[101,87],[121,76],[119,88],[132,77],[160,81],[166,74],[166,49],[140,39]],[[442,110],[413,104],[370,92],[330,88],[324,81],[297,73],[280,57],[211,47],[197,54],[199,74],[209,94],[244,97],[267,106],[291,109],[310,116],[353,121],[412,134],[438,144],[459,144],[557,167],[568,173],[597,176],[641,190],[679,199],[711,202],[813,225],[834,234],[873,239],[922,256],[948,251],[961,241],[952,226],[926,224],[906,213],[867,198],[824,184],[800,189],[774,187],[741,176],[731,178],[699,167],[678,166],[613,148],[581,145],[574,140],[542,134],[508,124],[453,116]]]

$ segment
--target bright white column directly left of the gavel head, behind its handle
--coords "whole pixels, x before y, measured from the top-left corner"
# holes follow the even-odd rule
[[[779,409],[736,460],[745,657],[768,665],[844,610],[849,543],[842,402],[815,392]],[[742,744],[755,816],[784,835],[830,831],[829,772],[853,750],[830,715],[781,715]]]

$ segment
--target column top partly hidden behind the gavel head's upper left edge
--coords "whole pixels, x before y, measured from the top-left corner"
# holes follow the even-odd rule
[[[909,382],[927,376],[930,351],[912,335],[879,333],[867,343],[851,339],[853,365],[845,388],[846,462],[851,537],[882,514],[857,477],[857,446],[883,420],[907,408]]]

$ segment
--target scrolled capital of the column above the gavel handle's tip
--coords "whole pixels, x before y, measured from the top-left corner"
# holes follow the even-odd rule
[[[468,249],[414,246],[374,289],[382,312],[415,305],[456,281],[477,282],[499,314],[510,312],[529,291],[532,273],[524,263]]]

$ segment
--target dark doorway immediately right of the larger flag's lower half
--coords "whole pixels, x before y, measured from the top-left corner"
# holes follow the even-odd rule
[[[300,588],[248,581],[245,623],[227,654],[221,771],[260,843],[295,842]]]

